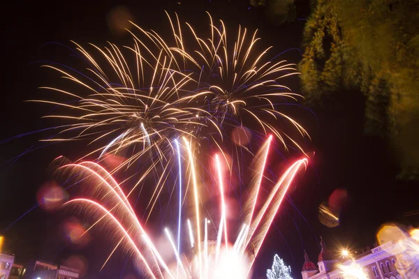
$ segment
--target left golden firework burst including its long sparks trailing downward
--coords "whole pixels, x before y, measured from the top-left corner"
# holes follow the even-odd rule
[[[117,154],[120,160],[113,166],[111,174],[129,169],[138,161],[144,166],[140,177],[133,184],[133,189],[143,186],[147,175],[159,172],[159,183],[148,204],[149,214],[163,189],[173,163],[176,160],[176,142],[178,135],[193,138],[189,130],[192,126],[205,126],[196,121],[195,116],[207,114],[200,107],[189,106],[188,101],[197,98],[200,93],[191,93],[185,89],[192,81],[191,77],[172,68],[172,59],[160,51],[154,56],[145,51],[143,55],[140,43],[126,50],[131,56],[123,55],[123,50],[113,44],[104,47],[92,46],[99,58],[77,45],[80,57],[87,61],[87,73],[80,74],[73,69],[52,68],[77,86],[77,92],[71,93],[57,88],[43,87],[55,93],[70,97],[61,103],[50,100],[37,100],[41,103],[58,105],[52,114],[45,118],[59,119],[61,125],[57,137],[45,141],[88,140],[89,146],[98,146],[78,160],[92,156],[98,163],[108,163]],[[146,48],[146,47],[145,47]],[[128,65],[128,61],[135,61]],[[108,71],[105,69],[112,69]],[[80,76],[80,77],[78,77]],[[73,100],[74,99],[74,100]],[[138,165],[138,164],[137,164]]]

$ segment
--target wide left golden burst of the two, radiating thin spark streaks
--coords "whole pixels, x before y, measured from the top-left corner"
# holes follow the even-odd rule
[[[105,65],[111,68],[113,72],[110,71],[108,75],[105,74],[105,68],[101,68],[103,63],[96,61],[93,55],[89,54],[80,45],[77,45],[77,50],[90,63],[91,67],[88,68],[89,76],[82,75],[85,81],[78,79],[76,75],[69,73],[67,70],[61,70],[56,66],[45,66],[56,70],[61,75],[64,75],[64,78],[75,82],[75,84],[78,84],[78,86],[81,86],[82,89],[89,93],[84,97],[79,93],[71,93],[47,86],[42,87],[43,89],[61,93],[78,100],[76,105],[48,100],[38,101],[72,109],[73,115],[52,114],[45,116],[46,118],[59,118],[74,122],[69,126],[61,126],[62,129],[59,135],[61,137],[64,136],[63,138],[53,138],[47,141],[83,140],[94,137],[91,140],[91,143],[93,143],[114,135],[113,140],[108,142],[108,144],[99,147],[89,154],[101,151],[99,156],[101,157],[109,149],[115,152],[119,149],[126,149],[128,146],[142,143],[144,147],[147,144],[157,149],[156,151],[162,159],[164,154],[161,153],[162,151],[159,151],[159,145],[166,142],[172,149],[170,140],[165,136],[168,131],[189,135],[185,130],[186,125],[205,126],[205,124],[191,121],[191,119],[196,112],[204,115],[207,112],[199,107],[183,106],[182,108],[182,103],[205,94],[205,91],[196,94],[186,93],[184,86],[191,81],[191,78],[170,70],[172,62],[166,56],[159,55],[154,57],[156,66],[152,66],[152,63],[146,61],[144,56],[131,49],[136,58],[138,58],[136,71],[138,71],[139,76],[142,76],[142,80],[139,78],[138,84],[135,84],[133,75],[131,75],[134,69],[128,67],[128,63],[126,63],[128,59],[124,58],[122,52],[115,45],[110,44],[110,47],[105,47],[105,50],[101,50],[101,48],[94,45],[93,47],[101,54]],[[144,73],[147,70],[153,74],[152,79],[149,81],[144,79]],[[115,86],[118,83],[110,82],[112,75],[117,76],[117,80],[122,84],[121,86]],[[145,89],[141,89],[142,84],[144,86],[147,84],[148,90],[147,86]],[[98,89],[94,89],[95,87]],[[182,93],[182,96],[179,96],[179,93]],[[175,98],[173,98],[174,96]],[[70,137],[66,136],[75,129],[79,129],[81,132]],[[115,134],[117,135],[115,136]],[[152,141],[154,144],[152,144]],[[139,157],[131,156],[128,160],[138,160]],[[130,163],[132,162],[127,164],[129,165]]]

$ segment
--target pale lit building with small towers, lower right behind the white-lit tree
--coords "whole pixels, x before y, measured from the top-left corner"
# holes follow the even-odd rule
[[[389,241],[381,246],[367,250],[353,259],[341,262],[332,259],[329,250],[321,240],[321,252],[318,255],[317,266],[310,261],[305,253],[305,262],[302,266],[302,279],[343,279],[369,278],[369,279],[419,279],[417,262],[419,251],[413,251],[414,257],[409,256],[408,246],[411,243],[416,249],[419,243],[413,239],[402,242]],[[413,259],[416,258],[416,259]],[[416,261],[413,262],[412,261]],[[347,276],[348,269],[361,271],[362,276]]]

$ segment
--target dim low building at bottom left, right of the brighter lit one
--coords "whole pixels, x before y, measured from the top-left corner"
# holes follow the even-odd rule
[[[77,269],[71,269],[67,266],[57,266],[39,260],[30,261],[24,273],[24,279],[76,279],[79,278]]]

